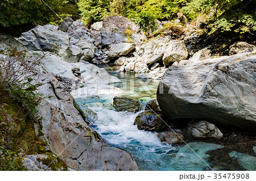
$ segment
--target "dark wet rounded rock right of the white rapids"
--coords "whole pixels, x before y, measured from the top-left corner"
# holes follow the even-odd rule
[[[134,121],[134,125],[137,125],[139,130],[144,131],[164,131],[167,125],[160,119],[159,115],[157,115],[154,111],[143,111],[138,114]]]

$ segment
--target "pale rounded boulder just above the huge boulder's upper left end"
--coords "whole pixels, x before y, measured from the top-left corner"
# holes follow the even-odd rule
[[[164,50],[163,63],[165,66],[188,58],[188,49],[184,43],[177,40],[170,41],[168,47]]]

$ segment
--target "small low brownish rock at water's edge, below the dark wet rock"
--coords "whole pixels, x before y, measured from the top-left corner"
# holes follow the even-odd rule
[[[175,133],[175,132],[158,133],[158,134],[156,134],[156,137],[158,137],[158,139],[161,142],[167,142],[167,143],[170,143],[170,144],[184,142],[184,140],[185,140],[185,138],[182,134]]]

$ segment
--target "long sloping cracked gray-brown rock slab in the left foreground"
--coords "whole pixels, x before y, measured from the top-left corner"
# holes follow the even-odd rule
[[[13,37],[6,37],[5,41],[1,41],[2,44],[6,45],[6,49],[10,48],[11,45],[19,45],[19,47],[26,49]],[[28,54],[31,55],[32,53],[34,52],[28,51]],[[1,58],[6,57],[2,56]],[[62,61],[60,60],[60,62]],[[90,66],[90,69],[98,70],[99,68]],[[26,70],[24,71],[26,73]],[[72,74],[69,66],[66,71],[71,71]],[[96,72],[98,74],[98,71]],[[108,73],[101,71],[101,74]],[[90,76],[93,74],[91,73]],[[89,127],[85,122],[85,115],[76,106],[66,85],[59,82],[40,65],[37,65],[32,73],[28,71],[21,81],[26,82],[26,77],[30,78],[30,83],[36,86],[36,90],[43,97],[39,106],[36,107],[38,110],[36,116],[40,119],[32,123],[35,127],[34,133],[38,139],[43,140],[42,142],[51,151],[51,158],[54,155],[53,159],[49,159],[49,156],[44,155],[44,153],[36,155],[24,153],[19,158],[22,159],[26,169],[51,170],[51,166],[60,159],[59,162],[63,163],[62,170],[68,168],[73,170],[138,170],[137,163],[129,153],[105,144],[98,133]],[[105,76],[103,81],[106,81],[108,77],[111,78],[110,75]],[[75,77],[73,81],[77,81],[77,78]],[[101,83],[104,84],[104,82]],[[90,82],[86,82],[86,85],[89,84]],[[46,151],[46,153],[48,152]],[[40,162],[42,160],[47,162],[43,162],[45,164],[42,165]]]

